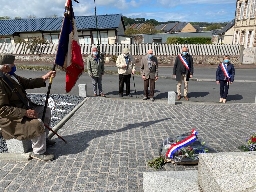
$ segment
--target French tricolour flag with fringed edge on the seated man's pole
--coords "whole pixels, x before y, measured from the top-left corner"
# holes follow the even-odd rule
[[[66,92],[68,93],[75,86],[77,79],[84,71],[71,0],[66,0],[54,64],[66,69]]]

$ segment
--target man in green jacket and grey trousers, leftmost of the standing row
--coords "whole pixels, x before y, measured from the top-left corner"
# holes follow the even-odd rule
[[[102,57],[98,54],[98,48],[92,47],[92,54],[87,58],[87,70],[92,78],[92,88],[94,96],[97,96],[97,83],[99,95],[106,97],[102,91],[101,76],[104,75],[104,63]]]

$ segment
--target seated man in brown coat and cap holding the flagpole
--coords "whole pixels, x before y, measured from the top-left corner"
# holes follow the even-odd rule
[[[31,157],[41,161],[51,161],[54,155],[47,154],[46,145],[55,141],[48,139],[51,109],[47,107],[44,122],[44,106],[30,101],[25,89],[45,87],[45,81],[55,77],[56,71],[37,78],[24,78],[15,74],[15,56],[0,53],[0,127],[4,139],[31,140]]]

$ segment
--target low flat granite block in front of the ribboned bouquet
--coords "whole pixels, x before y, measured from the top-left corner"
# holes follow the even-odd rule
[[[197,171],[143,172],[144,192],[200,192]]]

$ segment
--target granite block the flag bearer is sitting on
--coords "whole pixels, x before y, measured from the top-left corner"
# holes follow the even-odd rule
[[[6,145],[8,148],[8,153],[27,153],[32,147],[31,140],[17,140],[17,139],[7,139]]]

